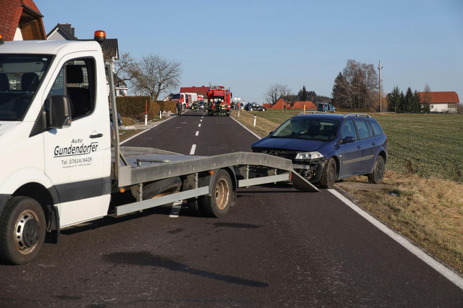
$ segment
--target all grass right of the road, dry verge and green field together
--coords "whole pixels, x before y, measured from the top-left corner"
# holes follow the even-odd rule
[[[236,113],[233,117],[264,137],[299,112],[240,111],[239,117]],[[337,185],[372,215],[463,272],[463,142],[459,137],[463,117],[373,117],[389,141],[383,183],[368,184],[367,178],[361,176]]]

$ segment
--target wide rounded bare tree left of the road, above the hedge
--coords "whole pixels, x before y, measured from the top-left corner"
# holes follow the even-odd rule
[[[180,85],[181,62],[169,60],[160,55],[143,56],[138,65],[139,74],[132,85],[152,100],[157,100],[163,92],[169,92]]]

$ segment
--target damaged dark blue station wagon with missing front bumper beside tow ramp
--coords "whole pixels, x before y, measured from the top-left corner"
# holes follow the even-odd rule
[[[322,188],[333,188],[336,179],[356,175],[381,183],[388,139],[369,115],[320,112],[290,118],[254,142],[252,151],[293,160],[295,172]]]

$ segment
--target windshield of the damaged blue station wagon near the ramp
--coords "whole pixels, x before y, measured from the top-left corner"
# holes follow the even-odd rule
[[[293,117],[276,129],[270,137],[332,141],[336,138],[338,126],[339,121]]]

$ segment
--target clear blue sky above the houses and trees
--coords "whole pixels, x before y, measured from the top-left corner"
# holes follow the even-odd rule
[[[456,91],[463,99],[463,1],[35,0],[48,33],[95,30],[119,52],[182,62],[182,86],[230,86],[263,102],[270,84],[331,95],[347,59],[381,60],[383,89]]]

